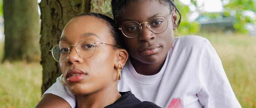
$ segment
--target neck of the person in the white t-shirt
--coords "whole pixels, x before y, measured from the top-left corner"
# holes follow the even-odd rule
[[[160,72],[161,68],[163,67],[163,65],[165,63],[166,57],[164,57],[164,59],[162,59],[156,63],[152,63],[152,64],[140,62],[132,57],[130,57],[130,60],[131,60],[132,66],[134,67],[134,69],[136,70],[137,73],[139,73],[141,75],[154,75],[154,74],[157,74]]]

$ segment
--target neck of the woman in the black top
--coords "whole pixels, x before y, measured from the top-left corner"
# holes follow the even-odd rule
[[[102,90],[90,95],[77,95],[78,108],[102,108],[110,105],[119,98],[120,94],[116,89]]]

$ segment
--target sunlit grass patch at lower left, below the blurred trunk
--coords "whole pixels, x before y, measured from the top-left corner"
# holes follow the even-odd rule
[[[42,66],[37,63],[0,64],[0,107],[33,108],[41,99]]]

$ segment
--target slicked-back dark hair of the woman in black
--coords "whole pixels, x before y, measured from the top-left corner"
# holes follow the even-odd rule
[[[108,27],[109,27],[109,30],[112,34],[112,37],[114,38],[115,45],[119,45],[119,46],[123,47],[123,42],[121,42],[122,39],[119,36],[117,25],[115,24],[113,19],[109,18],[106,15],[98,14],[98,13],[84,13],[84,14],[80,14],[76,17],[87,16],[87,15],[93,16],[93,17],[96,17],[96,18],[99,18],[99,19],[102,19],[103,21],[105,21],[107,23]]]

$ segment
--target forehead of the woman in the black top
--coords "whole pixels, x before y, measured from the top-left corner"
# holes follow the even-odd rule
[[[61,38],[66,38],[66,40],[81,40],[86,38],[84,36],[85,34],[95,34],[90,36],[95,36],[100,40],[111,35],[106,21],[87,15],[71,19],[65,26]]]

